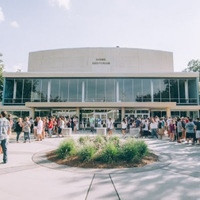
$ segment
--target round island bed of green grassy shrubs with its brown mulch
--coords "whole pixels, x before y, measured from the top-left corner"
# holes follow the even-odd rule
[[[141,167],[158,159],[144,141],[121,141],[117,136],[80,137],[78,141],[68,138],[47,157],[58,164],[86,168]]]

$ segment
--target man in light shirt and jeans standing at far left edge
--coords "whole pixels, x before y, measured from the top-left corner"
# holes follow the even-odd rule
[[[0,142],[3,151],[3,163],[8,162],[7,156],[7,138],[11,132],[10,122],[6,119],[7,113],[5,111],[1,112],[0,118]]]

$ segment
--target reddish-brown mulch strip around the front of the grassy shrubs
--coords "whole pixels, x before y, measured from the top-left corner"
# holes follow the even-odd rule
[[[127,163],[127,162],[113,162],[113,163],[100,163],[96,161],[82,161],[77,156],[71,156],[66,159],[59,159],[55,153],[55,151],[50,151],[47,154],[47,159],[55,162],[60,165],[67,165],[71,167],[81,167],[81,168],[132,168],[132,167],[143,167],[145,165],[154,163],[158,161],[158,156],[149,153],[147,156],[145,156],[140,163]]]

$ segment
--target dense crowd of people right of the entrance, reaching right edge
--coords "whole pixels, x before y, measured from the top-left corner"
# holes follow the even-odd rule
[[[133,119],[125,117],[121,122],[122,134],[125,136],[130,128],[138,128],[140,137],[162,139],[164,135],[170,142],[200,144],[200,119],[193,120],[189,117],[151,117]]]

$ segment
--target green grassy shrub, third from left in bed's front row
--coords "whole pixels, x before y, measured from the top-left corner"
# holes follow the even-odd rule
[[[111,163],[117,159],[118,148],[112,142],[107,142],[96,160]]]

